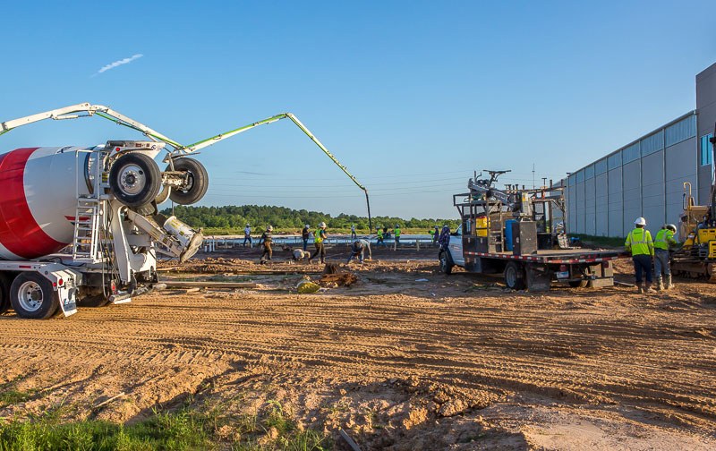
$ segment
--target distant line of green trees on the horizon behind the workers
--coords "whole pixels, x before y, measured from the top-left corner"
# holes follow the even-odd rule
[[[165,208],[161,211],[165,216],[172,215],[172,208]],[[354,224],[355,228],[362,231],[368,230],[368,217],[345,215],[341,213],[332,217],[320,211],[308,211],[305,209],[296,210],[286,207],[275,207],[267,205],[242,205],[223,207],[193,207],[177,205],[174,208],[174,215],[193,228],[232,229],[242,231],[243,227],[250,224],[251,227],[264,228],[273,225],[279,230],[300,230],[303,225],[311,225],[316,228],[320,222],[325,222],[329,229],[350,229]],[[455,230],[460,223],[457,219],[425,218],[403,219],[401,217],[373,217],[373,230],[376,227],[388,227],[392,229],[400,225],[405,229],[424,229],[427,233],[435,225],[449,225]]]

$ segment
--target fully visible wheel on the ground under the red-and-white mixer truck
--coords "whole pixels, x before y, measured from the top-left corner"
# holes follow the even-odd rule
[[[10,303],[20,318],[47,319],[60,308],[60,296],[45,277],[22,272],[10,286]]]

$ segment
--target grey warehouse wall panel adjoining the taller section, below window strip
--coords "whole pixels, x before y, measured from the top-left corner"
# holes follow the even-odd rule
[[[664,170],[666,173],[666,222],[678,224],[683,211],[684,182],[691,183],[694,195],[697,190],[696,166],[697,139],[681,141],[666,149]]]

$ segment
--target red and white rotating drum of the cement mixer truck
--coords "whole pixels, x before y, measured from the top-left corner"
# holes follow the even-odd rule
[[[90,193],[88,158],[78,147],[0,154],[0,259],[37,259],[72,243],[76,196]]]

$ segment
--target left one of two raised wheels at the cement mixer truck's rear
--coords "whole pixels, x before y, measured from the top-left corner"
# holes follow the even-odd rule
[[[161,187],[159,166],[140,152],[118,157],[109,170],[109,189],[127,207],[141,207],[155,200]]]

